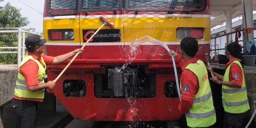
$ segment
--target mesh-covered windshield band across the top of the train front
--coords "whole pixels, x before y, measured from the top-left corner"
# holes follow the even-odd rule
[[[206,0],[47,0],[49,15],[67,15],[96,11],[201,12]]]

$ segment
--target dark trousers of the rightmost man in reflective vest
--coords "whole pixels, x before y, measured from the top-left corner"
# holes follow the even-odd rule
[[[248,123],[247,112],[228,113],[225,112],[223,128],[245,128]]]

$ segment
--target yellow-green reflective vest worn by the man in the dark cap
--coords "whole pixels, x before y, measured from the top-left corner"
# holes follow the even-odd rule
[[[45,83],[44,77],[46,74],[46,64],[45,64],[43,57],[41,57],[41,61],[45,66],[40,64],[40,62],[38,60],[34,59],[31,55],[25,55],[24,59],[22,60],[22,62],[20,63],[20,65],[18,67],[18,79],[16,81],[14,95],[16,97],[26,98],[26,99],[44,99],[44,97],[45,97],[44,89],[41,91],[29,91],[27,89],[27,85],[26,85],[27,83],[26,83],[24,76],[21,73],[19,73],[20,67],[23,64],[25,64],[28,60],[33,60],[37,63],[37,65],[38,65],[38,75],[37,75],[38,81],[39,81],[39,83]]]

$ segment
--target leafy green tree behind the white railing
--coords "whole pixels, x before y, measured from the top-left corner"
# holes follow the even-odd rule
[[[0,2],[3,0],[0,0]],[[0,27],[24,27],[29,24],[26,17],[22,17],[20,9],[7,3],[0,7]],[[18,46],[18,34],[0,34],[0,46]],[[0,51],[17,51],[16,49],[3,49]],[[17,54],[0,54],[0,64],[17,64]]]

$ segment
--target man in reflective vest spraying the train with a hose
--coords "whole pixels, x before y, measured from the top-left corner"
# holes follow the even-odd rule
[[[178,109],[185,113],[188,128],[213,128],[216,114],[212,101],[210,82],[205,64],[195,55],[198,41],[185,37],[181,41],[180,54],[170,53],[178,60],[181,74],[181,103]]]

